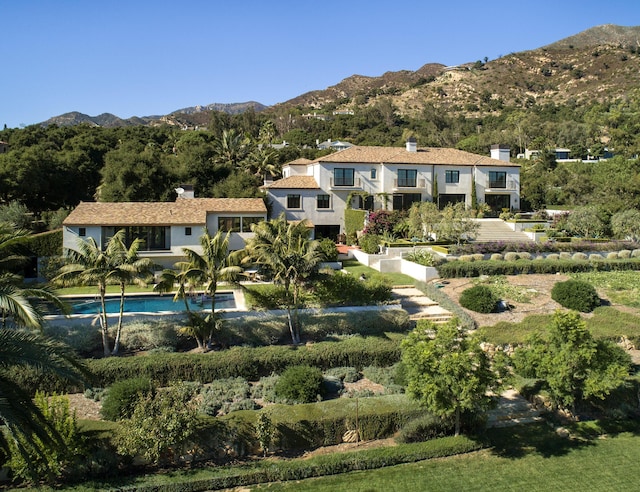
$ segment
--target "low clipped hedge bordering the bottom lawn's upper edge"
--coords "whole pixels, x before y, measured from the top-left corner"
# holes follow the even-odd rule
[[[358,470],[374,470],[403,463],[444,458],[482,449],[480,442],[467,437],[445,437],[433,441],[400,446],[334,453],[304,460],[263,461],[247,467],[210,468],[212,476],[180,481],[173,476],[172,483],[137,483],[119,488],[119,490],[138,490],[142,492],[196,492],[220,490],[254,485],[258,483],[279,482],[284,480],[303,480],[306,478],[337,475]],[[167,480],[166,477],[152,477],[151,480]],[[96,483],[96,486],[107,484]],[[115,485],[115,484],[109,484]]]

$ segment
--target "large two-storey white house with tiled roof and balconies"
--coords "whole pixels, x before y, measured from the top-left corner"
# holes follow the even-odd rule
[[[313,161],[286,164],[282,179],[265,183],[272,214],[313,226],[316,238],[336,239],[345,232],[344,211],[407,210],[414,202],[463,202],[471,206],[475,183],[479,202],[493,210],[520,208],[520,166],[509,149],[495,145],[491,157],[457,149],[351,146]],[[349,201],[349,203],[347,203]]]

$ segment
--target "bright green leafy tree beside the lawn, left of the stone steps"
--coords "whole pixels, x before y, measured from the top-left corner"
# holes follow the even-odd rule
[[[468,336],[453,319],[442,325],[421,320],[402,342],[407,368],[407,393],[441,418],[453,417],[460,434],[461,414],[486,410],[492,404],[498,373],[478,339]]]

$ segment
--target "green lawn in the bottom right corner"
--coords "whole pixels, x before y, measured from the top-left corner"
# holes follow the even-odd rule
[[[264,484],[251,490],[305,491],[632,491],[640,435],[564,439],[546,424],[497,433],[494,447],[466,455],[372,471]]]

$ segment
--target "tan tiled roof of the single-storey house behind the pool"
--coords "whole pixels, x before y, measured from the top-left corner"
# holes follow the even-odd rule
[[[262,198],[180,198],[175,202],[81,202],[64,225],[206,224],[207,213],[257,213],[267,209]]]

